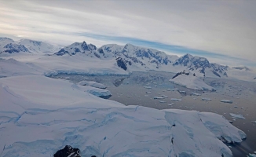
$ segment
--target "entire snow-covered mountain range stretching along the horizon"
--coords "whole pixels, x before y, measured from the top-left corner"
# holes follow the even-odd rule
[[[126,44],[119,46],[108,44],[97,48],[93,44],[86,42],[75,42],[69,46],[56,46],[47,42],[39,42],[29,39],[13,41],[11,38],[0,38],[0,54],[11,53],[48,53],[50,56],[74,56],[77,54],[98,60],[118,61],[119,68],[129,71],[170,71],[181,72],[189,71],[199,77],[218,77],[227,78],[232,70],[250,71],[247,67],[229,68],[221,64],[210,63],[207,58],[196,57],[191,54],[185,54],[182,57],[168,55],[157,49],[144,48]]]

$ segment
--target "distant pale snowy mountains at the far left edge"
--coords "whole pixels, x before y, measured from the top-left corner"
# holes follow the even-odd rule
[[[11,38],[0,38],[0,54],[5,53],[54,53],[60,46],[30,39],[14,41]]]

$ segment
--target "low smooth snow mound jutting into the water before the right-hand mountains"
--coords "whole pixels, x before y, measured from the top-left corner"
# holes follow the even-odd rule
[[[207,85],[202,79],[193,75],[178,75],[174,79],[170,79],[170,82],[174,82],[177,85],[185,86],[189,89],[196,90],[210,90],[214,91],[214,87]]]

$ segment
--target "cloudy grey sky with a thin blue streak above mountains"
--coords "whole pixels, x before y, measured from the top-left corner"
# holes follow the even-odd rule
[[[256,1],[0,0],[0,37],[116,43],[256,67]]]

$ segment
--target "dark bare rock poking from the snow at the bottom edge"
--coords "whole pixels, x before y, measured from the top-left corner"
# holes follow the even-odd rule
[[[70,145],[66,145],[63,149],[57,151],[54,157],[81,157],[79,148],[72,148]]]

